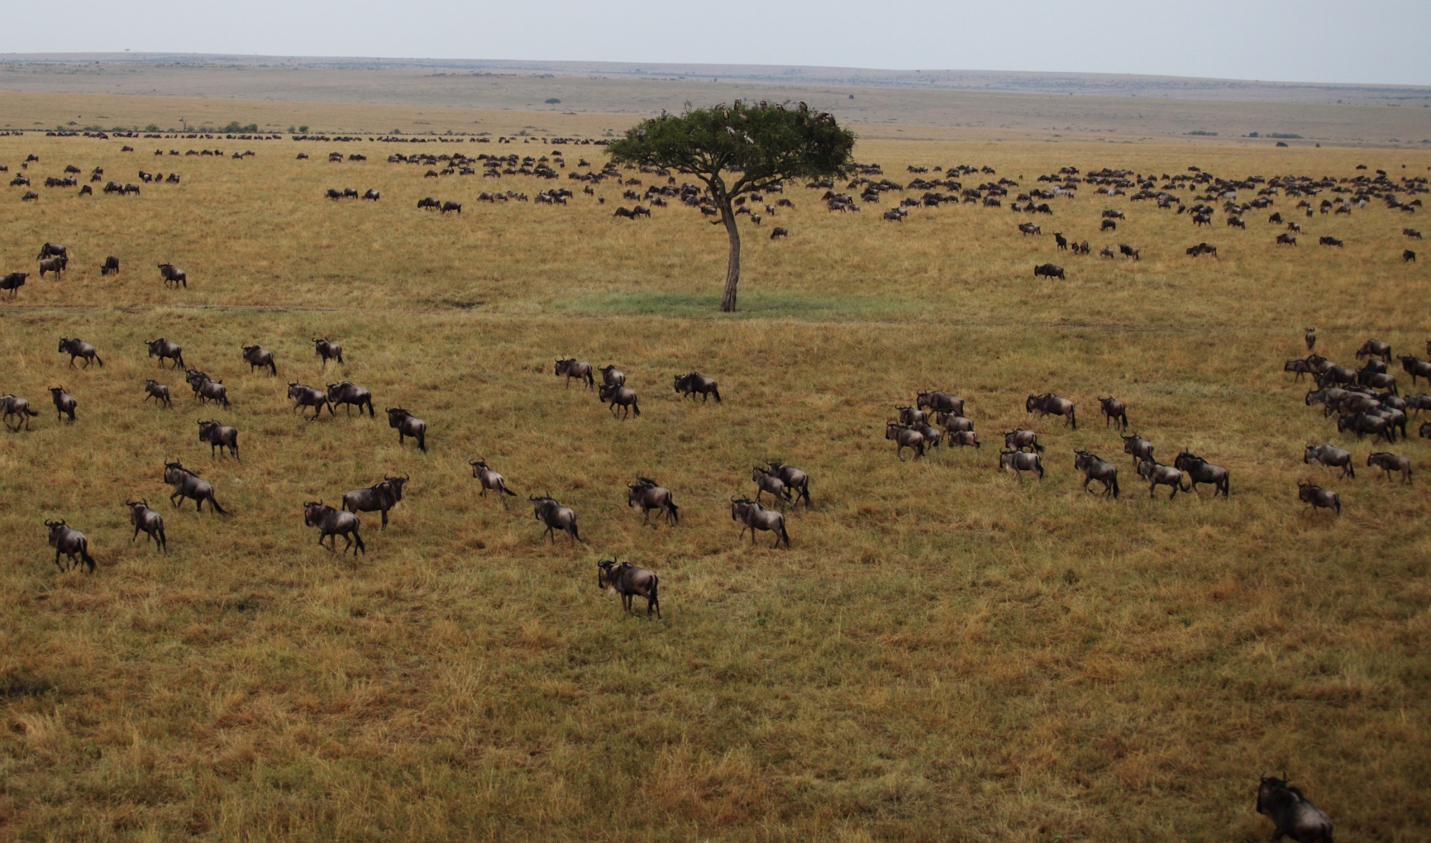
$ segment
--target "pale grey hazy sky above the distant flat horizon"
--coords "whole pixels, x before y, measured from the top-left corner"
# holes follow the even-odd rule
[[[1431,83],[1431,0],[30,0],[4,53],[547,59]]]

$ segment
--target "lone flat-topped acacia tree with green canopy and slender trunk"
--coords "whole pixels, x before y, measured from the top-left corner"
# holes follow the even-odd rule
[[[710,109],[685,106],[683,114],[661,113],[611,143],[615,163],[648,165],[695,176],[705,185],[730,236],[726,292],[720,309],[736,309],[740,283],[740,230],[734,200],[768,190],[787,179],[839,177],[850,172],[854,133],[834,117],[796,106],[741,103]],[[730,180],[728,180],[730,179]]]

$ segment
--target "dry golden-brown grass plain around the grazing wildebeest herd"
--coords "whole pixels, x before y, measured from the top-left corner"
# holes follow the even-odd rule
[[[359,145],[213,145],[258,155],[0,137],[11,170],[34,152],[33,175],[183,176],[137,198],[0,196],[0,269],[31,268],[44,240],[76,258],[64,281],[0,302],[0,391],[41,412],[0,437],[0,836],[1259,840],[1255,777],[1284,767],[1339,839],[1415,840],[1431,823],[1425,485],[1304,467],[1309,441],[1369,448],[1281,372],[1305,325],[1344,364],[1371,335],[1420,351],[1427,269],[1400,260],[1408,218],[1305,220],[1304,245],[1281,250],[1265,218],[1193,232],[1092,195],[1040,220],[1095,249],[1142,248],[1138,263],[1100,262],[1020,236],[1006,209],[893,225],[794,189],[797,208],[767,220],[788,240],[746,229],[743,309],[724,316],[720,229],[674,208],[614,220],[610,183],[604,208],[580,193],[488,206],[475,195],[492,180],[422,179],[379,143],[342,165],[322,153]],[[1025,185],[1063,165],[1431,165],[957,140],[871,140],[857,156],[900,180],[906,163],[987,163]],[[335,203],[329,186],[384,199]],[[418,212],[426,195],[462,216]],[[1105,202],[1129,213],[1106,239]],[[1347,248],[1317,249],[1318,233]],[[1222,259],[1188,259],[1201,239]],[[109,253],[117,281],[99,278]],[[1035,282],[1046,259],[1068,282]],[[160,286],[160,260],[189,272],[187,292]],[[67,369],[62,335],[106,366]],[[192,406],[145,359],[159,335],[235,406]],[[382,418],[293,416],[288,381],[336,379],[312,336],[345,345],[342,376],[379,409],[425,418],[429,452],[399,448]],[[255,341],[279,378],[239,361]],[[565,355],[621,365],[643,416],[612,421],[562,388],[551,365]],[[720,379],[724,404],[677,399],[668,379],[691,368]],[[140,404],[150,376],[175,386],[175,411]],[[60,382],[80,402],[73,427],[41,401]],[[986,448],[897,462],[883,421],[923,386],[967,396]],[[993,467],[997,434],[1030,424],[1023,398],[1039,391],[1075,398],[1083,424],[1032,419],[1049,475],[1019,485]],[[1232,497],[1149,501],[1126,458],[1120,501],[1083,494],[1072,449],[1120,457],[1095,418],[1109,392],[1159,455],[1188,447],[1231,468]],[[205,455],[196,418],[238,427],[242,464]],[[1418,471],[1431,454],[1394,449]],[[525,500],[478,498],[475,457],[575,508],[588,544],[542,544]],[[728,517],[770,457],[814,477],[791,551],[741,545]],[[120,502],[162,504],[166,458],[203,471],[233,515],[157,507],[159,555],[129,544]],[[302,501],[394,471],[412,474],[408,500],[385,532],[365,518],[366,557],[313,547]],[[640,527],[622,487],[637,474],[675,491],[678,528]],[[1341,492],[1339,520],[1301,512],[1307,477]],[[94,575],[50,564],[53,517],[90,537]],[[664,621],[624,618],[597,591],[610,554],[661,575]]]

